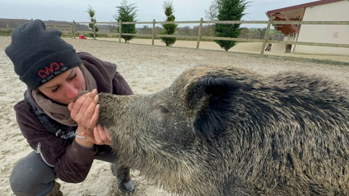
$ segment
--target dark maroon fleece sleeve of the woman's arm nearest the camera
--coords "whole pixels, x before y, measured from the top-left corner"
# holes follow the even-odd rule
[[[23,136],[30,147],[39,152],[39,156],[47,164],[53,166],[57,178],[70,183],[85,180],[97,150],[84,149],[75,140],[70,143],[50,134],[35,114],[31,113],[30,105],[23,100],[18,102],[14,109]]]

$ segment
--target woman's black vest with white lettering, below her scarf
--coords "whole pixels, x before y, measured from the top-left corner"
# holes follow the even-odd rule
[[[45,127],[45,129],[49,131],[49,133],[55,136],[59,136],[65,140],[73,140],[73,138],[75,137],[75,130],[77,126],[72,127],[63,125],[53,120],[43,111],[38,110],[38,108],[35,106],[31,98],[29,97],[28,90],[24,92],[24,100],[31,106],[33,113],[36,115],[36,117],[39,119],[40,123]]]

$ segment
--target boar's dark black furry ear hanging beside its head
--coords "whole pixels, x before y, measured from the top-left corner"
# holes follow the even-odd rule
[[[234,94],[243,86],[231,78],[203,78],[188,92],[190,109],[197,110],[194,130],[209,137],[229,120]]]

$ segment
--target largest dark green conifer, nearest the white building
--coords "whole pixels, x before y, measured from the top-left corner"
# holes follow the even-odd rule
[[[217,16],[220,21],[240,21],[245,15],[243,12],[247,7],[246,0],[221,0],[219,1],[219,14]],[[216,37],[232,37],[236,38],[240,35],[240,24],[216,24]],[[215,40],[225,51],[235,46],[235,41]]]

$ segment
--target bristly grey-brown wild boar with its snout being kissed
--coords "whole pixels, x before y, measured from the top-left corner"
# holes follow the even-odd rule
[[[339,83],[196,66],[151,95],[99,94],[119,164],[179,195],[348,195]]]

